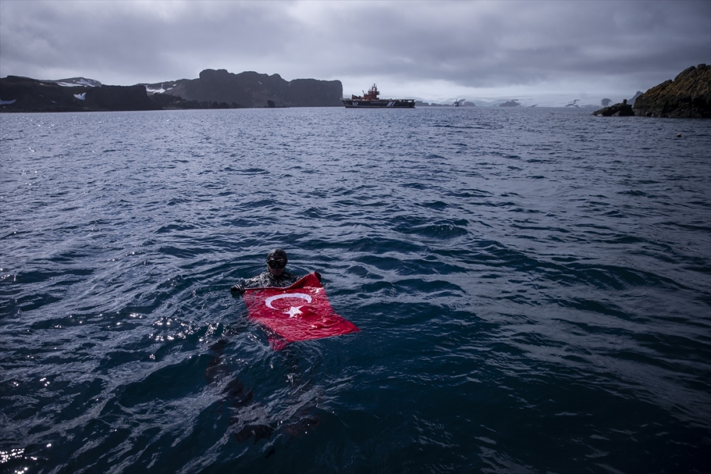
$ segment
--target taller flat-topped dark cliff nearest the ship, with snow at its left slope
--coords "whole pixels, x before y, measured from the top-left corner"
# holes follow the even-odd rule
[[[294,79],[258,72],[233,74],[206,69],[198,79],[147,84],[149,92],[183,97],[188,101],[225,102],[240,107],[343,107],[343,85],[338,80]]]

